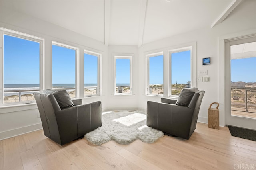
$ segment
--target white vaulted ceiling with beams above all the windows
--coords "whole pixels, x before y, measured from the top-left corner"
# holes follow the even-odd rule
[[[4,0],[1,5],[106,45],[140,46],[211,27],[234,1],[241,0]]]

